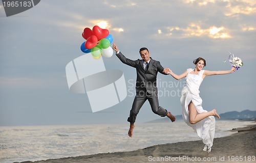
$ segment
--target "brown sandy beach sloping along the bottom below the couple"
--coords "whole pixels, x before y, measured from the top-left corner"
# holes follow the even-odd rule
[[[228,137],[216,138],[209,154],[202,141],[156,145],[129,152],[99,153],[34,161],[37,163],[80,162],[255,162],[256,125],[234,128]],[[23,161],[29,163],[32,161]]]

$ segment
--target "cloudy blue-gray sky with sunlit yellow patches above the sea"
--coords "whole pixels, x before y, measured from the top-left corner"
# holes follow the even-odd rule
[[[86,41],[81,34],[95,25],[109,30],[125,57],[140,59],[139,49],[147,47],[152,59],[176,74],[195,68],[198,57],[206,60],[206,70],[230,70],[224,61],[233,53],[244,65],[232,74],[205,77],[203,108],[216,108],[219,114],[255,111],[255,17],[253,0],[44,0],[9,17],[0,3],[0,125],[128,123],[136,70],[115,55],[102,60],[106,69],[123,72],[123,101],[93,113],[88,94],[69,91],[65,67],[88,55],[80,50]],[[181,115],[184,78],[159,73],[157,81],[160,106]],[[160,118],[146,101],[136,123]]]

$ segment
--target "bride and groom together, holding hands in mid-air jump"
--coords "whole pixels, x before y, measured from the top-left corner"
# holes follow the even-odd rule
[[[183,108],[182,117],[187,125],[193,127],[200,139],[203,140],[205,147],[204,151],[210,152],[215,134],[215,117],[220,119],[216,110],[207,112],[203,110],[202,99],[199,96],[199,87],[205,76],[228,74],[236,71],[232,67],[227,71],[208,71],[202,70],[206,66],[206,61],[203,58],[194,60],[195,68],[189,68],[180,75],[172,72],[169,68],[163,68],[159,61],[153,60],[150,57],[150,52],[147,48],[140,48],[140,57],[142,60],[130,60],[122,55],[116,44],[113,44],[113,49],[116,51],[116,56],[119,60],[129,66],[136,68],[136,96],[133,101],[130,116],[127,119],[130,122],[128,131],[129,137],[133,136],[134,123],[140,108],[146,100],[150,102],[152,111],[161,116],[167,116],[172,122],[176,120],[175,116],[159,106],[158,90],[157,90],[157,73],[170,74],[175,79],[179,80],[186,77],[186,86],[182,89],[180,102]]]

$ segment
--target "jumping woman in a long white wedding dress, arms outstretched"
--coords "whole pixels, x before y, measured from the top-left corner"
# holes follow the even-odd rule
[[[203,58],[198,58],[193,63],[196,65],[195,69],[189,68],[180,75],[173,73],[168,68],[165,69],[165,73],[172,75],[177,80],[186,77],[186,86],[182,89],[180,98],[183,109],[182,117],[186,124],[197,132],[198,137],[205,144],[203,150],[209,153],[215,135],[214,116],[219,119],[220,116],[215,109],[210,112],[203,109],[203,101],[199,96],[199,87],[205,76],[232,73],[236,71],[236,68],[232,67],[231,70],[227,71],[208,71],[202,70],[206,66],[206,61]]]

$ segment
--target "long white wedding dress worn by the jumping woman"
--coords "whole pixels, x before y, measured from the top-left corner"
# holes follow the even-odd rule
[[[188,126],[191,126],[198,134],[198,137],[203,140],[204,151],[207,150],[209,153],[211,151],[211,146],[214,142],[214,135],[215,135],[215,117],[209,116],[196,124],[191,124],[189,122],[189,111],[188,111],[188,104],[190,101],[193,102],[193,104],[196,107],[197,112],[205,113],[207,111],[203,110],[202,102],[203,100],[199,96],[199,87],[201,83],[203,82],[203,73],[204,70],[199,71],[198,74],[190,74],[191,71],[194,69],[187,69],[187,75],[186,75],[186,86],[182,89],[180,102],[182,105],[182,117],[183,120],[186,122]]]

